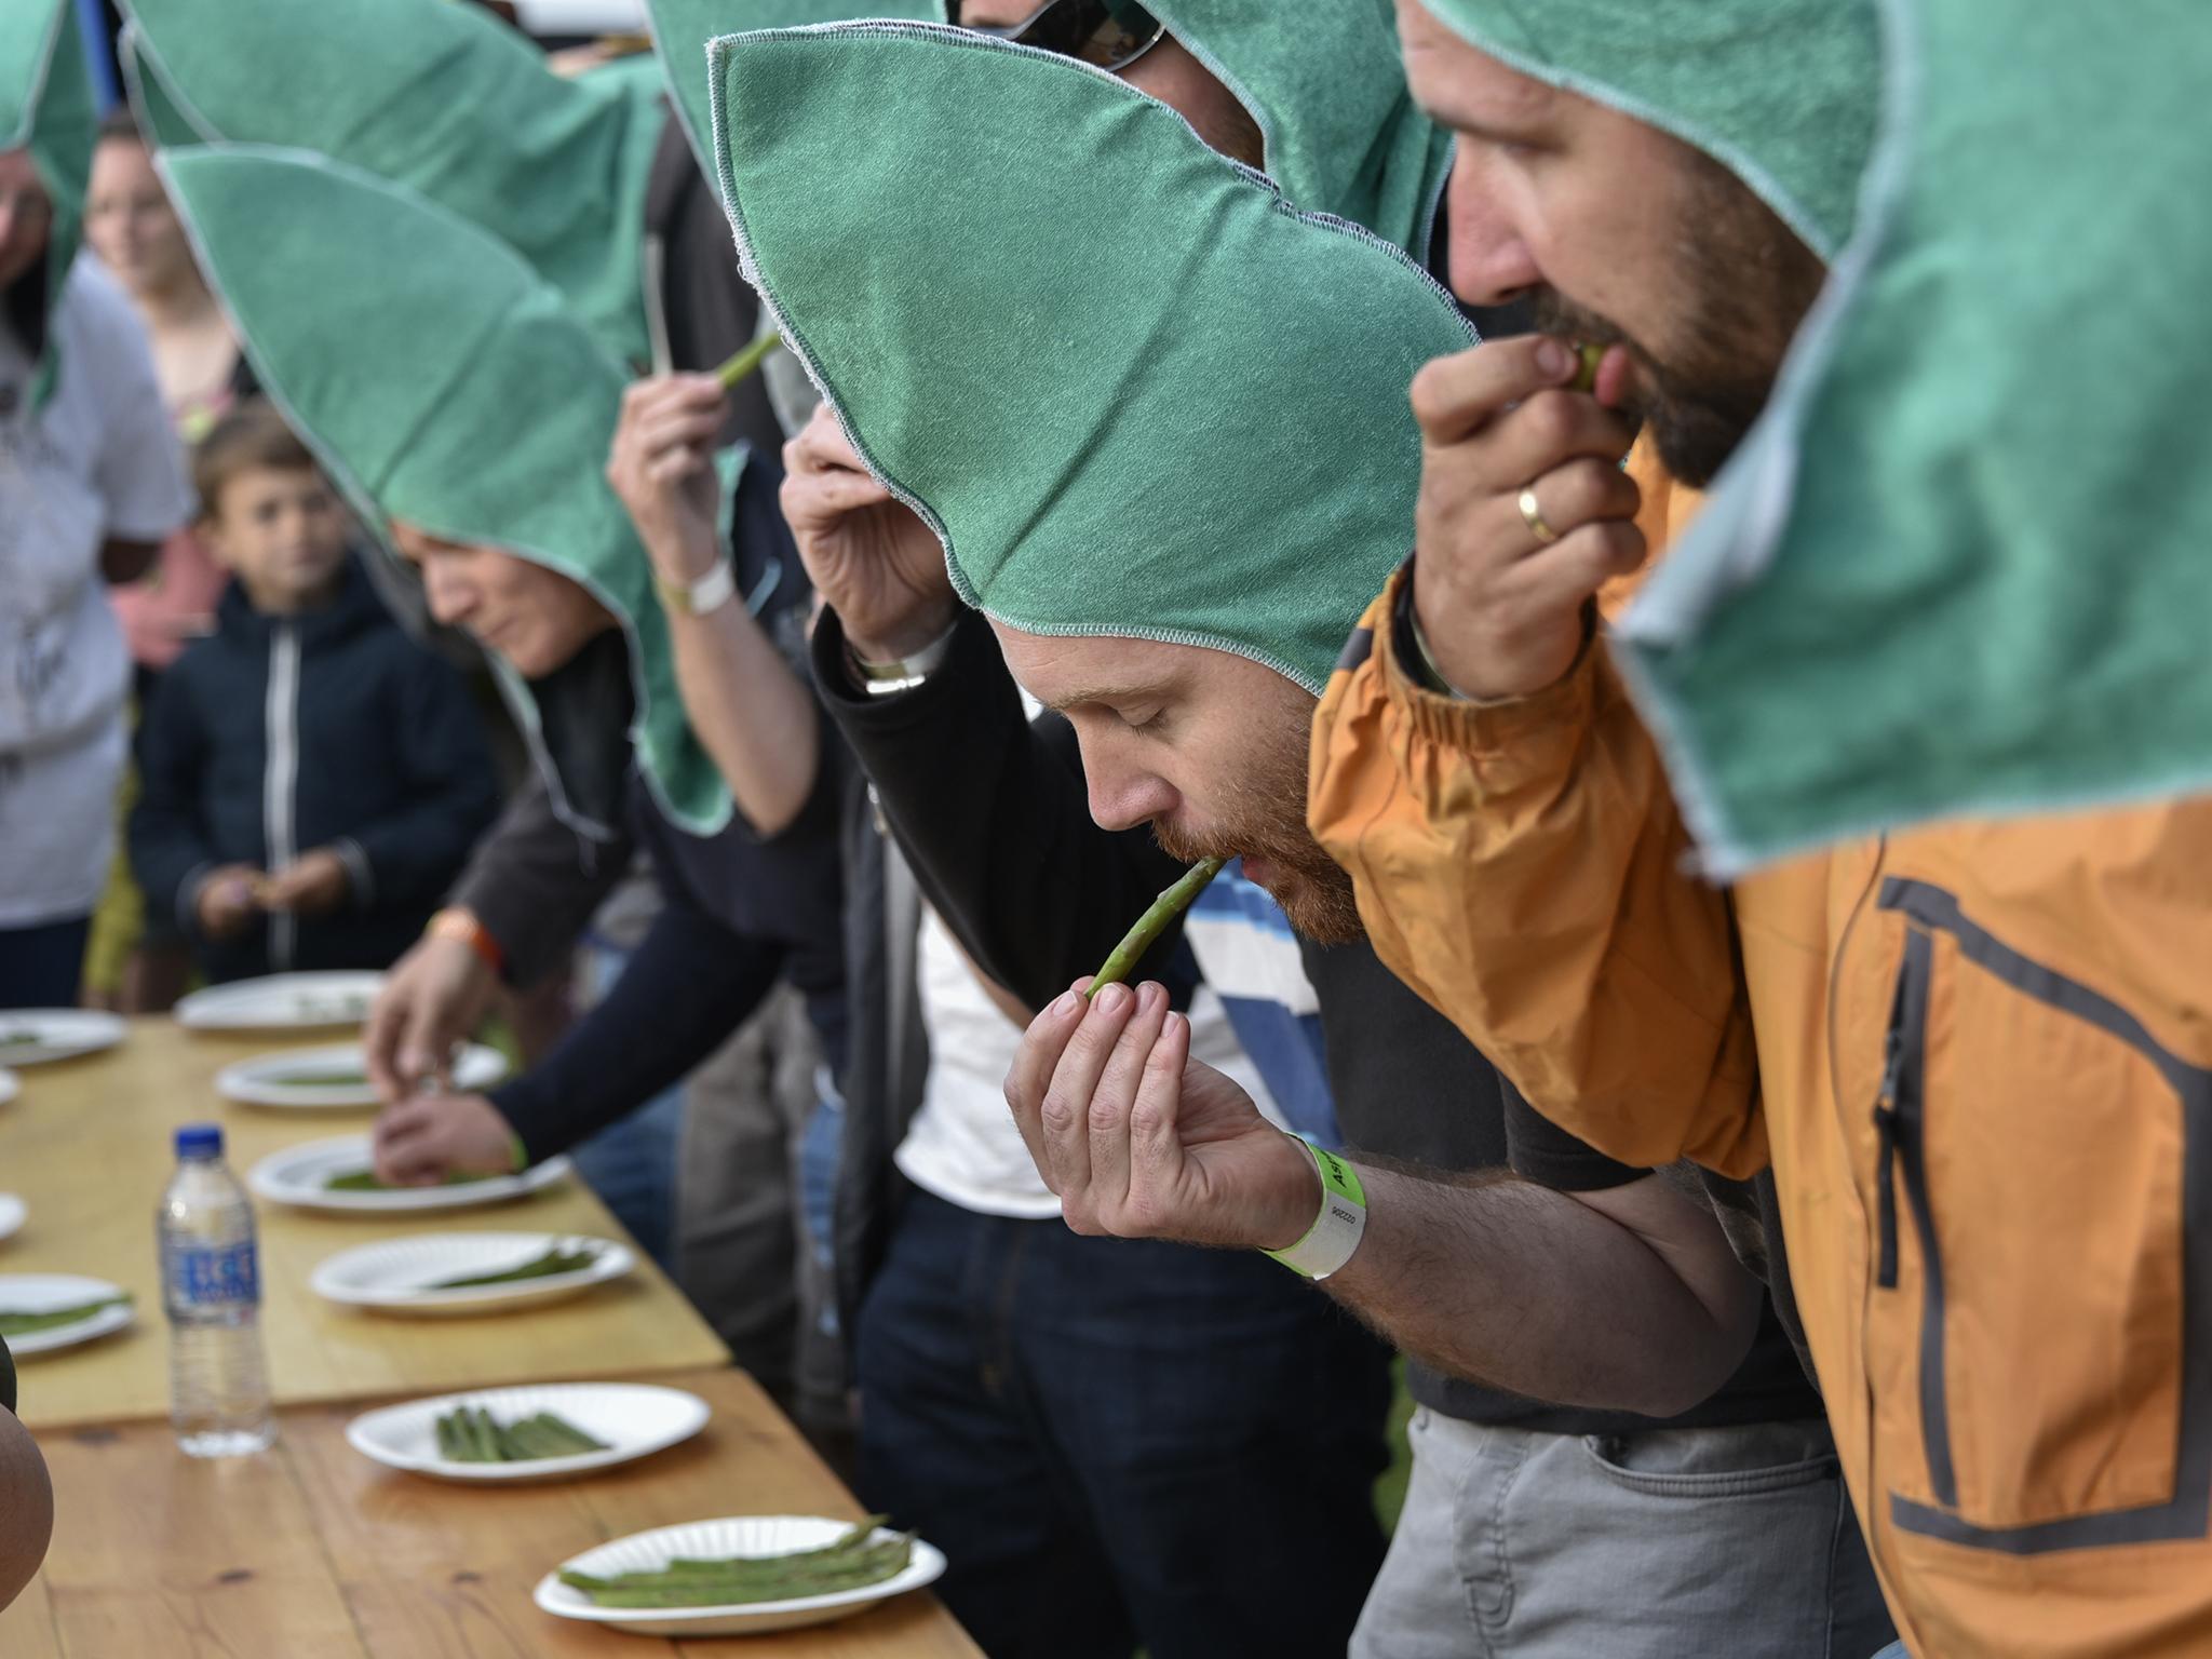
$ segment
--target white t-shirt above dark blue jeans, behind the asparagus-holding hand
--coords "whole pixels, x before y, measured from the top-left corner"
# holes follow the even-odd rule
[[[936,911],[922,911],[916,956],[929,1082],[894,1155],[900,1175],[962,1210],[1024,1221],[1057,1217],[1060,1199],[1044,1186],[1006,1110],[1006,1068],[1022,1046],[1022,1029],[991,1002]],[[1270,1119],[1283,1121],[1259,1071],[1237,1046],[1221,998],[1206,987],[1190,1004],[1190,1055],[1234,1077]]]

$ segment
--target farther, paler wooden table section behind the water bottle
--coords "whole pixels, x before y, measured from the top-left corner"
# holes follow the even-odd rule
[[[369,1126],[372,1113],[279,1113],[217,1097],[221,1066],[285,1046],[303,1042],[195,1035],[170,1020],[135,1020],[131,1037],[106,1055],[18,1073],[22,1097],[0,1108],[0,1190],[20,1194],[31,1214],[15,1239],[0,1243],[0,1272],[95,1274],[131,1290],[139,1310],[128,1332],[22,1363],[22,1418],[33,1429],[168,1413],[153,1210],[175,1166],[177,1124],[219,1121],[241,1179],[270,1152]],[[389,1318],[334,1307],[307,1290],[325,1256],[409,1232],[626,1237],[582,1181],[427,1217],[254,1203],[261,1340],[279,1405],[655,1376],[728,1360],[714,1332],[650,1261],[577,1301],[482,1318]]]

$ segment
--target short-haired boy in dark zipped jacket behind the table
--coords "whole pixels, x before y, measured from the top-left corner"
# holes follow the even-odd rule
[[[192,482],[230,586],[139,730],[146,902],[208,980],[387,967],[498,812],[476,710],[383,608],[274,407],[223,416]]]

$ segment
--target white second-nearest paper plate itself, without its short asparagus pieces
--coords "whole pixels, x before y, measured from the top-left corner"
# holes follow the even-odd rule
[[[531,1462],[453,1462],[438,1455],[438,1418],[476,1407],[500,1422],[513,1422],[538,1411],[551,1411],[575,1425],[606,1451],[582,1451],[575,1458],[533,1458]],[[646,1383],[551,1383],[529,1389],[484,1389],[478,1394],[440,1394],[436,1400],[409,1400],[367,1411],[345,1425],[345,1438],[363,1458],[392,1469],[407,1469],[440,1480],[480,1480],[491,1484],[529,1484],[568,1480],[619,1462],[637,1462],[690,1440],[706,1427],[706,1400],[684,1389],[661,1389]]]

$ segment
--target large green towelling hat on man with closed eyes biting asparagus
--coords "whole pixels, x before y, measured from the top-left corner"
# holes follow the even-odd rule
[[[1411,538],[1449,296],[1066,58],[856,22],[712,64],[745,274],[960,595],[1318,692]]]

